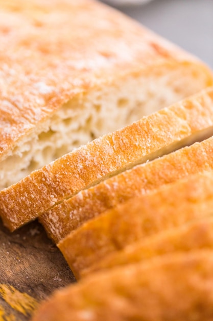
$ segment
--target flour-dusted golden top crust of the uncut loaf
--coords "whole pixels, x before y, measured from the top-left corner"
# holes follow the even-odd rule
[[[91,0],[1,1],[0,43],[0,160],[92,86],[153,64],[194,60]]]

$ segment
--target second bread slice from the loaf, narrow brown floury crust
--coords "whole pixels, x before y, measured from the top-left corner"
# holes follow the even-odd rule
[[[184,147],[152,162],[138,165],[76,196],[40,216],[49,236],[59,242],[86,220],[190,174],[213,169],[213,137]],[[5,220],[7,217],[5,217]]]

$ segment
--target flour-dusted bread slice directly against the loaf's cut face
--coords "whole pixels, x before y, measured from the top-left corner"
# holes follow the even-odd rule
[[[212,134],[213,87],[96,139],[1,191],[0,215],[14,230],[107,176]]]

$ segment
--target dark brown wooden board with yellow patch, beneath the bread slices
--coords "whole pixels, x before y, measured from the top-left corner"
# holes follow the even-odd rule
[[[36,221],[10,233],[0,220],[0,321],[27,321],[42,299],[75,282]]]

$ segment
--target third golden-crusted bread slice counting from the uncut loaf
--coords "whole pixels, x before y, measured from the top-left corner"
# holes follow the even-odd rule
[[[212,184],[213,172],[197,174],[132,198],[89,220],[58,247],[79,277],[82,270],[137,240],[212,215]]]

